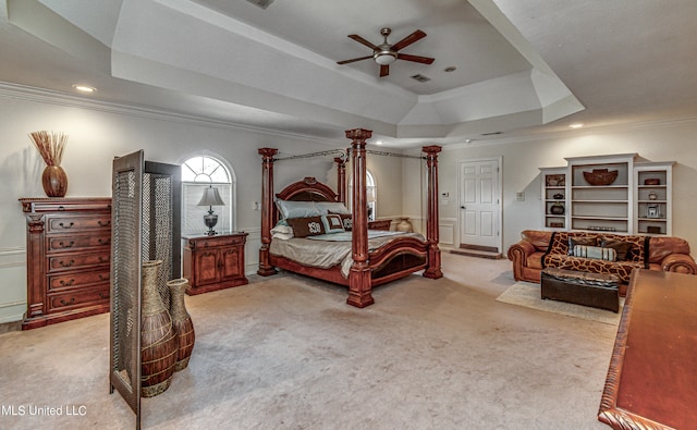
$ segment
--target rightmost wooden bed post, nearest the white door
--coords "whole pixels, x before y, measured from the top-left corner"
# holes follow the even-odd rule
[[[440,248],[438,247],[438,145],[425,146],[426,167],[428,168],[428,219],[426,220],[426,239],[428,241],[428,267],[424,277],[438,279],[443,277],[440,262]]]

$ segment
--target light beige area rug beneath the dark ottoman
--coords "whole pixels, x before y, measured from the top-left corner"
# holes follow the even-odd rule
[[[620,311],[617,314],[611,310],[596,309],[588,306],[574,305],[550,299],[540,298],[540,285],[531,282],[516,282],[509,287],[499,297],[498,302],[508,303],[510,305],[524,306],[547,312],[565,315],[567,317],[582,318],[590,321],[598,321],[606,324],[617,325],[620,316],[622,315],[622,304],[624,298],[620,299]]]

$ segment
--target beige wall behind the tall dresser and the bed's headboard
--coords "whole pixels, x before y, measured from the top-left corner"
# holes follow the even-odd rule
[[[66,197],[111,196],[112,159],[139,149],[144,149],[146,160],[164,163],[179,164],[200,153],[224,159],[237,180],[236,228],[249,233],[245,256],[248,273],[256,271],[260,244],[260,211],[253,209],[261,196],[257,149],[279,148],[279,157],[285,157],[350,146],[348,139],[311,140],[49,94],[29,96],[21,89],[0,94],[0,323],[22,319],[26,310],[26,222],[17,199],[45,197],[45,164],[28,133],[47,130],[69,135],[62,163],[69,176]],[[367,165],[379,185],[379,218],[398,217],[402,210],[401,160],[374,158]],[[335,186],[333,157],[278,162],[276,189],[304,176]]]

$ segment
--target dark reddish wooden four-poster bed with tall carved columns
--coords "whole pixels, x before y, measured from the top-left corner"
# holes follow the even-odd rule
[[[428,218],[426,238],[419,234],[396,234],[394,232],[368,232],[368,219],[366,210],[366,139],[372,135],[371,131],[355,128],[346,131],[346,137],[351,139],[351,159],[353,167],[351,233],[343,233],[350,238],[344,243],[345,254],[343,261],[332,261],[329,267],[321,265],[308,265],[298,262],[293,258],[299,254],[293,246],[319,246],[325,243],[326,250],[319,251],[322,258],[329,255],[330,248],[339,248],[342,245],[329,238],[330,242],[311,241],[325,238],[330,235],[292,238],[289,241],[273,239],[272,229],[279,221],[279,210],[273,199],[273,162],[278,150],[274,148],[260,148],[262,158],[262,184],[261,184],[261,247],[259,249],[259,270],[262,277],[276,274],[276,268],[291,272],[321,279],[325,281],[348,286],[346,303],[355,307],[366,307],[374,303],[372,286],[381,285],[411,273],[423,270],[424,277],[438,279],[442,277],[440,249],[438,247],[438,152],[440,146],[425,146],[426,163],[428,172]],[[420,157],[419,157],[420,158]],[[345,157],[334,158],[338,174],[338,193],[329,186],[317,182],[314,177],[305,177],[285,187],[276,194],[281,202],[314,202],[310,205],[333,208],[332,204],[346,201],[346,167]],[[288,204],[290,205],[290,204]],[[341,205],[340,205],[341,206]],[[341,211],[340,211],[341,212]],[[325,210],[323,222],[330,217],[337,217],[335,212]],[[328,214],[327,214],[328,213]],[[346,217],[346,214],[341,214]],[[319,225],[319,221],[316,223]],[[311,228],[313,225],[310,225]],[[327,226],[327,224],[326,224]],[[332,237],[334,235],[331,235]],[[337,235],[339,236],[339,235]],[[293,242],[291,242],[293,241]],[[314,244],[309,244],[309,243]],[[350,249],[348,249],[350,245]],[[284,251],[283,249],[291,249]],[[294,250],[293,250],[294,249]],[[291,254],[289,254],[291,253]],[[343,271],[342,271],[343,267]]]

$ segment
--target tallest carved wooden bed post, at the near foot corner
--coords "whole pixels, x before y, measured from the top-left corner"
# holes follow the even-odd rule
[[[364,308],[375,303],[372,279],[368,267],[368,211],[366,209],[366,139],[372,132],[364,128],[346,131],[351,139],[351,158],[353,164],[353,229],[352,257],[353,265],[348,273],[348,298],[346,303]]]

